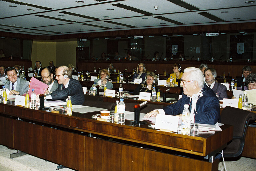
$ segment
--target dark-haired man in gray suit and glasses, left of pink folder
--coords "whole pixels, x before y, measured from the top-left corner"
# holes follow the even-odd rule
[[[9,79],[4,84],[5,88],[10,90],[9,95],[23,95],[26,93],[26,90],[29,90],[29,82],[25,79],[18,78],[17,70],[14,67],[7,68],[5,75]]]

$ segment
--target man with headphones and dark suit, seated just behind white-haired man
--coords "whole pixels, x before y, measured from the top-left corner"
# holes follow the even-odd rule
[[[204,70],[206,85],[214,91],[218,100],[223,100],[223,98],[228,98],[227,88],[225,85],[215,81],[216,75],[216,70],[213,68],[207,68]]]

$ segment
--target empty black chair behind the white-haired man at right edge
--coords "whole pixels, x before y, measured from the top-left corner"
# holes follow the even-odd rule
[[[221,113],[221,123],[233,125],[233,139],[223,151],[224,157],[238,157],[244,148],[247,126],[255,120],[256,114],[250,111],[227,106]]]

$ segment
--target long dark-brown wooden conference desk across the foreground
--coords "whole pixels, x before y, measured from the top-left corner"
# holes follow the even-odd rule
[[[0,104],[0,144],[76,170],[218,170],[211,156],[233,135],[231,125],[192,137],[12,104]]]

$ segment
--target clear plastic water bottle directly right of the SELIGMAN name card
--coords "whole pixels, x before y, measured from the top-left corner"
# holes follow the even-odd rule
[[[182,112],[181,134],[183,135],[190,134],[190,112],[188,106],[188,104],[185,104]]]

